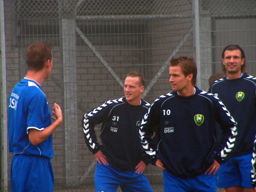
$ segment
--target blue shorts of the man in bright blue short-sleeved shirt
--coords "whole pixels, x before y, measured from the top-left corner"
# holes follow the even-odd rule
[[[12,192],[52,192],[54,175],[50,159],[14,155],[10,171]]]

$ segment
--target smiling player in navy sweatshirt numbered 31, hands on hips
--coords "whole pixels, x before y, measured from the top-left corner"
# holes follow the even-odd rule
[[[97,159],[94,175],[96,192],[152,192],[143,174],[148,161],[143,156],[136,125],[150,104],[141,99],[144,77],[130,72],[124,81],[124,97],[109,100],[84,114],[82,127],[89,150]],[[94,126],[102,123],[99,144]]]

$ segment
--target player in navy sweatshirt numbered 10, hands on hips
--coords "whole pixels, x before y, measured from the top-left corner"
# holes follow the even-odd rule
[[[216,192],[214,174],[234,147],[236,122],[217,97],[195,86],[194,58],[172,58],[169,74],[173,91],[156,99],[137,127],[141,148],[163,169],[165,192]],[[224,132],[217,149],[215,121]]]

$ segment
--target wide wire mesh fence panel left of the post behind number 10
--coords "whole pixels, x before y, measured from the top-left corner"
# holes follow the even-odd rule
[[[82,115],[123,96],[130,71],[144,74],[143,97],[148,102],[170,91],[166,83],[170,56],[193,54],[192,4],[10,0],[5,1],[5,14],[8,94],[26,75],[26,47],[35,41],[53,44],[54,67],[42,89],[49,105],[56,102],[64,112],[64,123],[53,133],[54,190],[94,191],[96,161],[84,143]],[[162,191],[161,170],[150,165],[145,174],[154,191]]]

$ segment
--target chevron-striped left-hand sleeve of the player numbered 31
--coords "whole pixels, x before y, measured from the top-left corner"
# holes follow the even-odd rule
[[[104,102],[101,106],[87,112],[82,118],[84,140],[92,154],[95,154],[100,150],[100,145],[97,141],[94,127],[96,124],[106,122],[109,110],[107,102]]]

